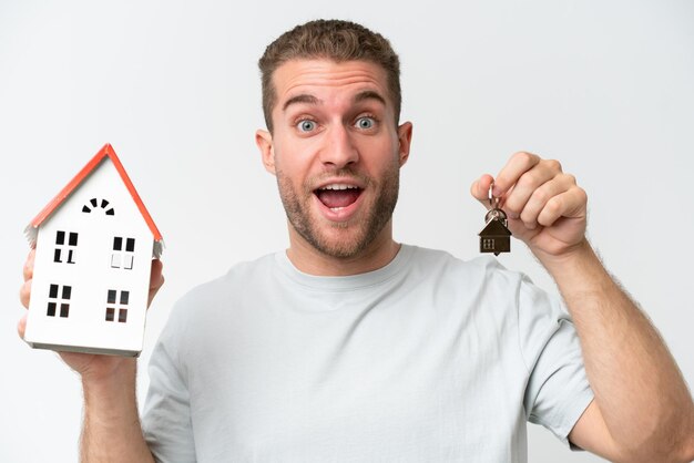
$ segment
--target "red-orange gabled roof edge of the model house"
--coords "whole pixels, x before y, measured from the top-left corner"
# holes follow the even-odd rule
[[[78,173],[78,175],[75,175],[74,178],[72,178],[70,183],[65,185],[65,187],[61,189],[60,193],[49,204],[45,205],[43,210],[41,210],[39,215],[37,215],[33,218],[33,220],[31,220],[30,227],[38,228],[43,223],[43,220],[45,220],[51,214],[53,214],[53,212],[58,208],[58,206],[60,206],[62,202],[65,200],[65,198],[70,196],[72,192],[74,192],[74,189],[92,173],[92,171],[94,171],[94,168],[96,168],[96,166],[101,164],[101,162],[105,157],[109,157],[111,162],[113,163],[113,165],[115,166],[115,169],[118,171],[119,175],[121,176],[121,179],[125,184],[127,192],[130,193],[130,195],[133,197],[133,200],[137,205],[137,209],[140,209],[140,214],[142,214],[142,218],[144,218],[144,222],[150,227],[150,230],[152,232],[154,239],[156,241],[161,241],[162,234],[159,232],[159,228],[156,228],[156,225],[154,225],[154,220],[152,220],[152,216],[150,216],[147,208],[144,207],[144,204],[142,203],[142,199],[140,198],[137,191],[135,191],[135,186],[130,181],[127,173],[125,173],[125,168],[123,168],[123,164],[121,164],[121,160],[119,160],[119,157],[115,155],[113,147],[109,143],[103,145],[103,147],[99,151],[99,153],[96,153],[96,155],[92,157],[92,160],[89,163],[86,163],[84,167],[82,167],[82,169]]]

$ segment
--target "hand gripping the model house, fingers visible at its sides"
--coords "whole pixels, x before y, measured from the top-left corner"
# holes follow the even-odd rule
[[[19,298],[25,308],[29,308],[29,300],[31,298],[31,281],[33,278],[33,261],[35,256],[35,249],[32,249],[24,263],[24,284],[19,291]],[[150,276],[150,296],[147,300],[147,307],[152,303],[152,299],[164,284],[164,277],[162,275],[162,263],[159,259],[152,260],[152,272]],[[19,336],[24,338],[24,330],[27,327],[27,313],[22,316],[17,327]],[[108,380],[109,377],[114,377],[120,373],[120,370],[124,364],[132,363],[133,359],[115,356],[99,356],[92,353],[79,353],[79,352],[60,352],[60,357],[64,360],[70,368],[82,375],[83,380]]]

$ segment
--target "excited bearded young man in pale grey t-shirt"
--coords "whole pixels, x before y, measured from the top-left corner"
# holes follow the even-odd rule
[[[558,162],[517,153],[493,194],[573,323],[494,259],[394,241],[412,125],[398,122],[398,58],[382,37],[309,22],[261,69],[268,130],[256,142],[289,249],[177,303],[152,356],[145,438],[135,362],[62,354],[82,375],[85,461],[523,462],[527,420],[613,461],[694,459],[686,385],[593,254],[586,195]],[[486,204],[491,183],[472,195]],[[31,269],[32,255],[24,305]],[[160,263],[152,275],[153,297]]]

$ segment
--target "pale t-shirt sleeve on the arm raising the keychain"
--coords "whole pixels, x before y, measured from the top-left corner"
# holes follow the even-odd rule
[[[525,416],[570,445],[569,433],[593,400],[575,327],[561,302],[528,278],[518,303],[520,347],[530,372]]]

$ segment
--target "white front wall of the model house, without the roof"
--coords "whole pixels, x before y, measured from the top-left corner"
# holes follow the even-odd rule
[[[94,207],[91,203],[95,198]],[[102,199],[109,204],[101,207]],[[88,206],[91,213],[82,212]],[[114,215],[105,212],[113,208]],[[54,263],[57,232],[78,234],[74,247],[63,246],[63,263]],[[112,268],[114,237],[134,238],[132,269]],[[146,300],[154,239],[132,196],[110,158],[92,174],[41,225],[37,240],[34,276],[24,339],[33,347],[55,350],[137,354],[142,350]],[[74,264],[67,264],[72,248]],[[121,257],[130,253],[118,253]],[[51,285],[72,288],[69,316],[60,317],[61,294],[55,316],[48,316]],[[109,290],[129,291],[126,305],[108,303]],[[106,321],[106,308],[115,309]],[[119,309],[126,321],[119,322]]]

